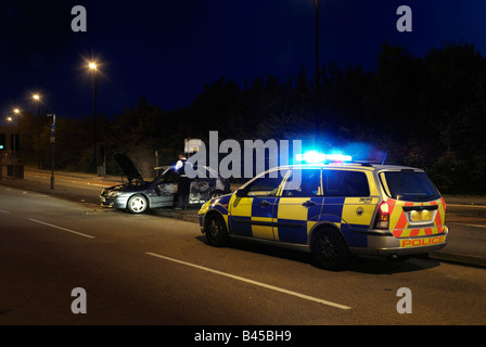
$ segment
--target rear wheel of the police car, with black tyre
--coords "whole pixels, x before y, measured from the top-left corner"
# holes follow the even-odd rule
[[[323,228],[312,236],[310,250],[319,268],[340,270],[349,261],[343,236],[332,228]]]

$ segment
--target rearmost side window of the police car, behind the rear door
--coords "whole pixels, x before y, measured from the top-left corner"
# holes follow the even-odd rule
[[[324,170],[322,178],[325,196],[370,196],[364,172]]]

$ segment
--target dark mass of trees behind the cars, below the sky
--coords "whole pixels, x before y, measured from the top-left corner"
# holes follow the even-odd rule
[[[189,107],[171,111],[141,98],[113,119],[99,118],[98,146],[106,149],[108,174],[118,172],[112,154],[123,151],[150,175],[155,151],[158,165],[172,164],[184,139],[207,141],[210,130],[240,142],[300,139],[322,150],[359,149],[360,159],[386,153],[387,162],[424,168],[443,193],[486,193],[486,60],[473,44],[447,43],[415,57],[384,42],[375,70],[330,62],[318,82],[304,68],[244,86],[220,78]],[[49,167],[49,121],[26,115],[21,129],[24,160],[40,156]],[[57,134],[59,167],[92,170],[92,117],[61,117]]]

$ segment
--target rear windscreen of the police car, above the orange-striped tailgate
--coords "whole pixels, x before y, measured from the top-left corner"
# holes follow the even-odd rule
[[[386,195],[407,202],[426,202],[440,197],[425,172],[413,170],[383,171],[380,180]]]

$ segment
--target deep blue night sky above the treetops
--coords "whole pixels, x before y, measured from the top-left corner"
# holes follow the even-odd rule
[[[74,5],[87,11],[87,31],[71,28]],[[399,33],[399,5],[412,10],[412,33]],[[319,63],[375,67],[384,39],[423,56],[464,40],[486,55],[486,1],[320,0]],[[163,110],[189,106],[225,76],[282,79],[315,73],[314,0],[31,1],[0,4],[1,121],[20,107],[37,112],[33,93],[60,116],[114,116],[140,97]]]

